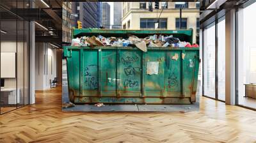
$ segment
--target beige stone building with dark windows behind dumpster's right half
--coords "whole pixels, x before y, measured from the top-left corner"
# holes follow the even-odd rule
[[[199,6],[197,2],[159,2],[159,9],[148,10],[148,2],[122,3],[123,29],[193,29],[193,42],[199,43]],[[182,22],[180,26],[180,6],[182,6]],[[163,12],[161,13],[163,9]],[[160,15],[161,13],[161,15]],[[160,15],[160,17],[159,17]]]

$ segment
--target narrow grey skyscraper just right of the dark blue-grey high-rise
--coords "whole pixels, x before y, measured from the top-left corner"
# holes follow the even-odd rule
[[[110,29],[110,5],[102,3],[102,26]]]

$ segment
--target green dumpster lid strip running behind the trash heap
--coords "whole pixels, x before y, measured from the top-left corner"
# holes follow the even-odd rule
[[[180,41],[189,41],[193,43],[193,29],[182,29],[182,30],[123,30],[123,29],[73,29],[73,38],[81,36],[98,36],[102,35],[105,37],[122,37],[128,38],[131,35],[138,36],[139,38],[145,38],[149,35],[162,34],[162,35],[173,35],[175,38],[179,38]]]

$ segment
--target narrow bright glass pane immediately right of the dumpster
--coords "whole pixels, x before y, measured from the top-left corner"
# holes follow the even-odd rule
[[[215,26],[204,30],[204,95],[215,98]]]

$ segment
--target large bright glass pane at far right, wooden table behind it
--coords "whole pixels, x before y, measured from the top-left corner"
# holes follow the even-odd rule
[[[238,104],[256,109],[256,3],[238,11]]]

